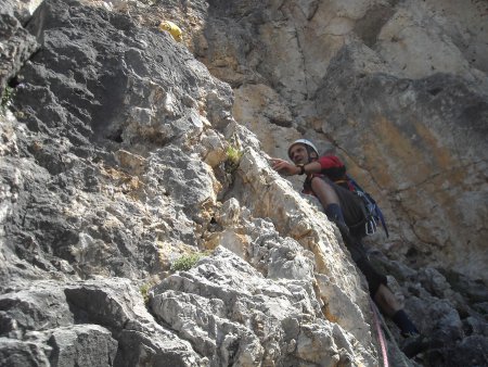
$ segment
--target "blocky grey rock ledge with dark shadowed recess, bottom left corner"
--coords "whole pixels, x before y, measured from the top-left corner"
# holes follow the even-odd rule
[[[38,280],[0,298],[2,366],[205,365],[128,279]]]

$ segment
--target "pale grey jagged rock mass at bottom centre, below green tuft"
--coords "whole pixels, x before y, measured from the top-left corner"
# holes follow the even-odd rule
[[[310,276],[274,279],[222,249],[166,278],[151,307],[211,366],[331,366],[361,354],[361,363],[373,363],[349,333],[320,317]]]

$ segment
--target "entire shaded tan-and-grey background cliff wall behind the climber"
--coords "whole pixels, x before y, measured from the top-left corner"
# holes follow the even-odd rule
[[[239,3],[210,2],[194,38],[237,122],[272,155],[304,135],[335,148],[394,227],[385,250],[486,281],[486,5]]]

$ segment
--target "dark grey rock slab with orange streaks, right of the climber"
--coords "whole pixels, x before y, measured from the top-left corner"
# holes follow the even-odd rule
[[[322,130],[388,193],[398,242],[413,243],[432,265],[485,279],[486,96],[452,75],[371,73],[359,62],[368,52],[351,45],[331,63],[317,94]],[[398,242],[391,250],[404,253]]]

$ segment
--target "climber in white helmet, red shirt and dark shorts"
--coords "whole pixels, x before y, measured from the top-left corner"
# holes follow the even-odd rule
[[[418,340],[419,330],[389,290],[386,276],[370,263],[361,243],[365,232],[361,230],[363,226],[358,224],[363,223],[364,212],[360,206],[361,200],[351,192],[345,165],[335,155],[320,156],[316,145],[307,139],[294,141],[288,148],[288,157],[293,164],[272,159],[272,168],[284,176],[306,176],[303,192],[317,197],[328,218],[339,229],[352,261],[368,281],[375,304],[398,326],[402,337]],[[409,351],[404,353],[419,353],[421,345],[418,344],[410,343]]]

